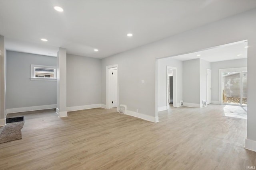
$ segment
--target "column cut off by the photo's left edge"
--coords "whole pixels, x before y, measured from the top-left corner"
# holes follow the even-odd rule
[[[6,53],[4,36],[0,35],[0,127],[6,124],[5,115]]]

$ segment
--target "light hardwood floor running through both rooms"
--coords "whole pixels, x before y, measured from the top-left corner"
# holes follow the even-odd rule
[[[0,169],[243,170],[256,166],[244,149],[246,119],[224,106],[159,112],[158,123],[88,109],[59,118],[54,111],[25,115],[22,139],[0,144]],[[8,115],[10,116],[10,115]]]

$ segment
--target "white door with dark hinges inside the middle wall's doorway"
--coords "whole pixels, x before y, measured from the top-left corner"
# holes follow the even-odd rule
[[[110,106],[117,107],[117,70],[110,69]]]

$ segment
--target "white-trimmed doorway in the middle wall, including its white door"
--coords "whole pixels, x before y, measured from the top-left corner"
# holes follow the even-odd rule
[[[106,66],[106,108],[118,111],[118,64]]]

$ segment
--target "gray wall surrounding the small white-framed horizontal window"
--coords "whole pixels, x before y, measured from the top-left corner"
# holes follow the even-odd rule
[[[31,64],[56,66],[56,57],[7,51],[6,109],[56,104],[56,81],[31,81]]]

